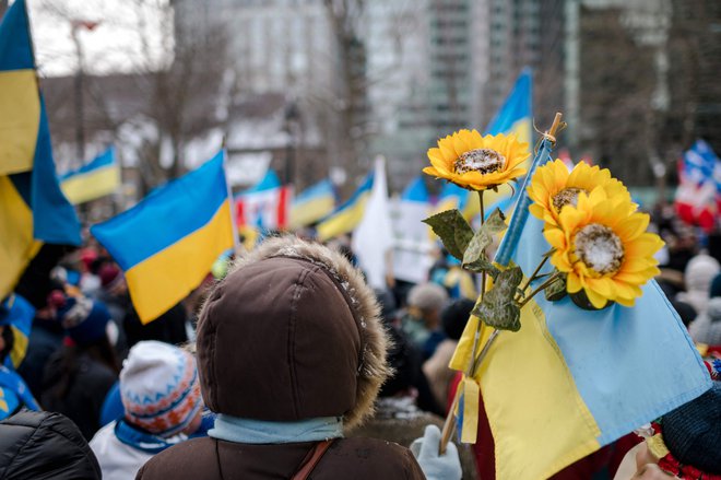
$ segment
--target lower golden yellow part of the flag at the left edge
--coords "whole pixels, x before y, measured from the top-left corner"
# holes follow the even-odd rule
[[[0,298],[4,298],[42,246],[33,239],[33,212],[7,176],[0,176]]]

